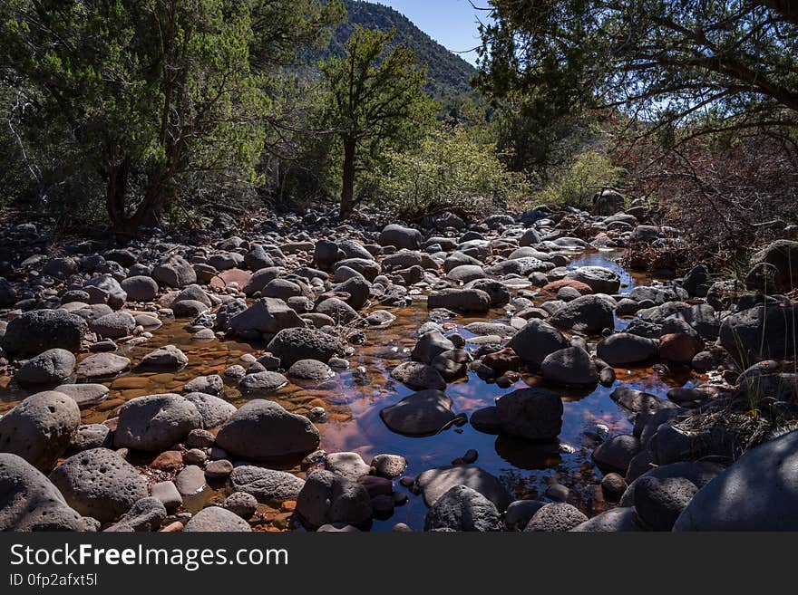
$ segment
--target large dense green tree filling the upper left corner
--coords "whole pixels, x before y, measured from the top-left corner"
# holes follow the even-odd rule
[[[0,77],[24,96],[27,127],[66,131],[113,228],[132,234],[186,176],[253,178],[265,67],[323,14],[316,0],[7,0]]]

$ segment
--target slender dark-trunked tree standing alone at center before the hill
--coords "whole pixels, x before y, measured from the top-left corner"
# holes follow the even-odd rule
[[[321,65],[330,90],[327,120],[343,145],[341,218],[355,207],[357,172],[367,158],[419,137],[433,116],[423,91],[425,72],[413,50],[396,46],[385,54],[394,33],[355,28],[342,57]]]

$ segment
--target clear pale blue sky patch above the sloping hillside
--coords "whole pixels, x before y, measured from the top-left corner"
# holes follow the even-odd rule
[[[463,60],[476,63],[473,52],[480,43],[477,20],[485,20],[487,13],[475,10],[469,0],[372,0],[388,5],[404,14],[436,42],[459,54]],[[473,0],[480,7],[487,0]]]

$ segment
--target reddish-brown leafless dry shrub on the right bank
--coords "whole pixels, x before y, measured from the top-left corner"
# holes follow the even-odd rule
[[[663,149],[637,142],[626,152],[638,196],[681,230],[689,260],[744,273],[749,254],[798,223],[795,132],[702,135]]]

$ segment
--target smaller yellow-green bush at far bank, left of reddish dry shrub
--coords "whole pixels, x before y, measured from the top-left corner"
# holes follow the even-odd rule
[[[568,169],[543,190],[534,201],[545,205],[588,208],[593,195],[602,187],[615,187],[624,174],[603,153],[591,150],[579,155]]]

